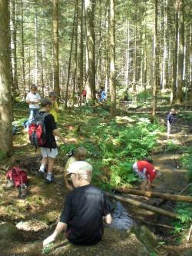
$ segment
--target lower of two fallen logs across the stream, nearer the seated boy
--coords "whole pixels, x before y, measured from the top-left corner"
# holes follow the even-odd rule
[[[111,193],[106,192],[106,191],[105,191],[105,194],[110,198],[114,198],[114,199],[117,199],[119,201],[124,201],[125,203],[132,204],[132,205],[134,205],[138,208],[143,208],[143,209],[146,209],[146,210],[149,210],[149,211],[153,211],[157,214],[162,214],[162,215],[168,216],[170,218],[180,218],[179,214],[176,214],[172,211],[167,211],[167,210],[164,210],[164,209],[161,209],[161,208],[157,208],[157,207],[154,207],[154,206],[149,205],[149,204],[141,203],[141,201],[137,201],[137,200],[130,199],[130,198],[124,198],[121,195],[111,194]]]

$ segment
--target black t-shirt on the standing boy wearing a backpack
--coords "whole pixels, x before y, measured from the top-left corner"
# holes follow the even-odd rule
[[[39,115],[43,115],[45,111],[40,111]],[[45,116],[45,145],[44,148],[57,148],[57,144],[55,141],[55,136],[53,135],[53,130],[57,129],[57,125],[55,123],[55,118],[53,115]]]

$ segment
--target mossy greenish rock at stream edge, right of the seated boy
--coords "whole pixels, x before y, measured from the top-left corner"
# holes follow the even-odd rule
[[[136,226],[131,229],[136,234],[137,238],[144,244],[148,251],[154,252],[154,248],[157,247],[157,239],[153,232],[146,226]]]

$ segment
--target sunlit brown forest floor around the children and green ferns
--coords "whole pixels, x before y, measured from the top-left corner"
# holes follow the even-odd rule
[[[27,117],[25,111],[15,111],[15,115],[20,120],[20,124]],[[24,116],[24,118],[22,118]],[[100,113],[79,111],[66,111],[61,115],[59,128],[64,131],[68,140],[73,141],[74,145],[89,145],[88,138],[81,135],[81,127],[83,122],[91,124],[91,118],[100,118],[101,122],[108,121],[108,113],[101,111]],[[22,119],[21,119],[22,118]],[[87,119],[86,119],[87,118]],[[120,118],[123,118],[122,116]],[[164,116],[159,116],[164,121]],[[190,123],[183,124],[183,128],[175,129],[174,134],[170,135],[169,144],[167,144],[167,135],[163,131],[157,138],[157,146],[151,152],[154,160],[154,166],[159,168],[163,175],[159,181],[154,182],[154,191],[162,191],[172,194],[179,194],[188,184],[186,170],[180,166],[180,156],[182,151],[180,147],[183,145],[192,146],[192,135],[190,134]],[[168,146],[167,146],[168,145]],[[174,145],[174,147],[173,147]],[[175,146],[176,145],[176,146]],[[68,145],[70,149],[70,145]],[[56,165],[55,176],[59,180],[63,179],[63,169],[68,156],[60,151]],[[18,190],[5,191],[5,170],[7,162],[1,161],[2,172],[0,178],[0,224],[9,222],[20,226],[21,231],[18,237],[0,241],[0,255],[41,255],[42,241],[51,234],[55,228],[55,221],[61,213],[63,201],[68,193],[67,189],[58,184],[45,185],[43,179],[33,175],[31,171],[37,171],[41,161],[39,152],[35,153],[35,149],[28,143],[28,134],[21,129],[18,135],[14,137],[14,155],[10,162],[21,166],[28,172],[29,186],[28,196],[25,200],[18,199]],[[187,191],[185,191],[187,192]],[[134,196],[132,196],[134,197]],[[149,204],[157,205],[157,199],[141,198],[141,201]],[[174,210],[174,204],[170,202],[159,201],[158,205],[163,205],[165,209]],[[169,228],[160,228],[155,224],[151,225],[150,221],[157,224],[170,225],[170,218],[160,217],[151,212],[130,208],[124,204],[127,211],[132,217],[144,215],[145,223],[149,222],[148,227],[157,234],[157,240],[161,241],[156,248],[157,254],[149,253],[142,249],[142,244],[134,234],[127,231],[118,231],[111,228],[105,228],[103,240],[92,247],[76,247],[64,240],[62,234],[50,251],[44,251],[50,255],[81,255],[81,256],[143,256],[143,255],[162,255],[162,256],[190,256],[192,251],[192,238],[185,246],[186,233],[180,238],[180,244],[176,244],[178,234],[171,233]],[[140,221],[138,221],[140,223]],[[167,242],[165,242],[167,241]],[[142,251],[143,250],[143,251]]]

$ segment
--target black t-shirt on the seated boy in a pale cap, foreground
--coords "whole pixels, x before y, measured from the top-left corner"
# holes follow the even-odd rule
[[[104,192],[92,185],[74,188],[66,200],[60,221],[68,224],[66,236],[77,245],[101,241],[103,216],[110,214],[111,204]]]

